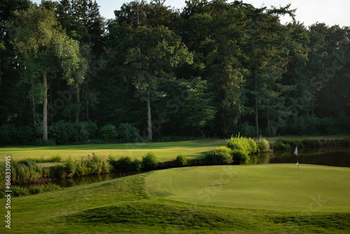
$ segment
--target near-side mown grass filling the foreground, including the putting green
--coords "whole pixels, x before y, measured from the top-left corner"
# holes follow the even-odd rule
[[[189,167],[12,198],[6,233],[349,233],[350,169],[301,165],[299,182],[294,170]]]

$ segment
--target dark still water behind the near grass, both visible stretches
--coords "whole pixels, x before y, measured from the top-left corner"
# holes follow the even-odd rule
[[[350,167],[350,147],[343,148],[324,148],[324,149],[298,149],[298,157],[293,150],[274,151],[272,153],[261,153],[255,156],[253,164],[266,163],[297,163],[327,165],[336,167]],[[127,177],[141,172],[120,172],[109,173],[87,177],[76,177],[69,179],[59,179],[51,181],[52,184],[58,184],[61,187],[71,187],[80,184],[90,184],[99,181],[106,181],[120,177]]]

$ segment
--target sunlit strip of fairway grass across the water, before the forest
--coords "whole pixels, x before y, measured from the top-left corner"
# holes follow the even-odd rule
[[[0,159],[10,155],[12,159],[47,157],[59,153],[63,158],[80,158],[92,152],[112,156],[130,156],[142,159],[152,151],[160,161],[174,160],[179,154],[188,158],[203,158],[204,153],[225,144],[223,139],[196,140],[189,142],[130,143],[130,144],[81,144],[64,146],[9,146],[0,147]]]

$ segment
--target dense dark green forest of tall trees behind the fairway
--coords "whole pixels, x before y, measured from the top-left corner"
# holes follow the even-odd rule
[[[115,10],[1,1],[1,145],[350,132],[350,27],[243,1]]]

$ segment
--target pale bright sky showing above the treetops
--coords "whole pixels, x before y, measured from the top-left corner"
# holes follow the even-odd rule
[[[41,0],[32,0],[40,4]],[[97,0],[99,12],[106,18],[114,18],[113,11],[119,10],[125,2],[132,0]],[[148,0],[149,2],[149,0]],[[232,2],[232,1],[228,1]],[[326,25],[350,26],[350,0],[244,0],[247,4],[255,7],[261,6],[286,6],[292,4],[291,8],[297,8],[295,19],[310,26],[315,22],[325,22]],[[166,0],[165,5],[174,8],[183,8],[185,0]],[[281,19],[282,23],[289,22],[290,18]]]

